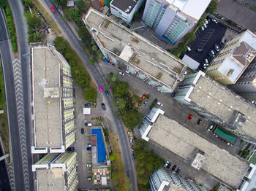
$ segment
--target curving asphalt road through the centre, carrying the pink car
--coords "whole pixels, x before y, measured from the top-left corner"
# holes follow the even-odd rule
[[[41,1],[44,5],[45,9],[47,9],[48,13],[53,17],[53,19],[58,24],[59,28],[61,29],[62,35],[66,37],[72,48],[75,50],[75,52],[78,53],[81,60],[83,61],[83,64],[86,66],[86,69],[89,71],[89,74],[94,79],[94,82],[97,83],[97,85],[102,85],[103,87],[106,86],[105,79],[102,77],[102,71],[100,71],[99,66],[97,64],[94,64],[91,66],[88,61],[89,58],[87,55],[83,52],[83,47],[80,45],[80,41],[77,36],[75,36],[75,33],[72,31],[72,29],[62,20],[62,15],[59,12],[58,9],[54,6],[52,1],[44,0]],[[50,6],[55,7],[56,13],[53,14],[50,10]],[[122,157],[124,160],[124,166],[126,167],[126,174],[129,177],[131,184],[132,184],[132,190],[138,190],[137,183],[135,181],[135,165],[132,160],[132,156],[129,152],[129,143],[128,138],[126,136],[126,132],[124,130],[124,125],[121,121],[117,120],[115,117],[115,112],[113,111],[111,104],[110,104],[110,97],[106,97],[104,94],[101,94],[99,96],[102,96],[102,101],[105,103],[106,107],[109,107],[109,116],[111,116],[110,120],[113,122],[113,129],[116,131],[118,135],[118,139],[120,141],[121,145],[121,151],[122,151]],[[85,177],[86,178],[86,177]]]

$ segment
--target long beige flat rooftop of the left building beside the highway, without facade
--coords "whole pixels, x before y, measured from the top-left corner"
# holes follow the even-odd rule
[[[35,147],[61,147],[60,63],[56,50],[31,47]]]

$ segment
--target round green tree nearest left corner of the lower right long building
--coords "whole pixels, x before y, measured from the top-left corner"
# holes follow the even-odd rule
[[[124,125],[129,129],[135,128],[140,123],[142,118],[143,114],[136,110],[124,112]]]

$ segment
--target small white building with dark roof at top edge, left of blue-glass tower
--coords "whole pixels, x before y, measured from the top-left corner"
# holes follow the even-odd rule
[[[113,0],[110,2],[110,11],[113,15],[129,24],[143,1],[145,0]]]

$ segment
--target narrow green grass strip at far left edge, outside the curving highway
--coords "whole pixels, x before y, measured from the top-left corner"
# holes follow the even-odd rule
[[[0,70],[1,70],[1,60],[0,60]],[[0,114],[1,120],[1,139],[4,142],[4,150],[5,152],[10,152],[9,150],[9,135],[8,135],[8,127],[7,127],[7,112],[5,107],[5,97],[4,97],[4,79],[2,70],[0,72],[0,109],[4,110],[3,114]]]

